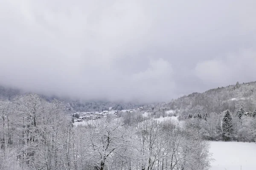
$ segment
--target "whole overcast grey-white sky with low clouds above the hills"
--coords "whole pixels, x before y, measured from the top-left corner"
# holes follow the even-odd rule
[[[0,84],[169,101],[256,81],[256,0],[0,0]]]

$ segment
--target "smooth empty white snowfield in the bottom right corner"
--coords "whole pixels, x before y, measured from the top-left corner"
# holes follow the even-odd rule
[[[256,170],[256,144],[244,142],[210,142],[213,154],[209,170]]]

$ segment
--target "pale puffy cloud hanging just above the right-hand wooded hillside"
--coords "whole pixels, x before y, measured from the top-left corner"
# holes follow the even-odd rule
[[[215,86],[230,84],[235,81],[247,82],[255,79],[256,51],[241,49],[236,53],[228,53],[221,58],[203,61],[195,67],[195,75],[207,84]]]

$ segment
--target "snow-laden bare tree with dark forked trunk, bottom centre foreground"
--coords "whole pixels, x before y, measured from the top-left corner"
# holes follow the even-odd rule
[[[124,169],[139,160],[133,130],[124,127],[122,118],[108,118],[90,124],[84,132],[87,143],[86,169]],[[117,163],[118,161],[118,163]]]

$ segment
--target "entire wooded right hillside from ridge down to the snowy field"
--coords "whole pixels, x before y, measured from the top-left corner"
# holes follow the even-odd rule
[[[256,141],[256,82],[192,93],[164,106],[204,139]]]

